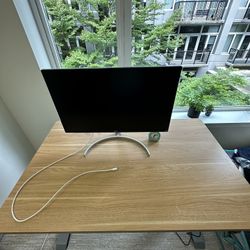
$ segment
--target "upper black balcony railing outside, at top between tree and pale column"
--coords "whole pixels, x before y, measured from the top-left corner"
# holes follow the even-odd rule
[[[181,9],[182,21],[219,21],[223,18],[226,6],[227,0],[178,1],[174,9]]]

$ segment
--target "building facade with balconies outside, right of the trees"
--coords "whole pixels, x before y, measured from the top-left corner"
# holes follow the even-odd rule
[[[181,10],[178,33],[184,44],[171,64],[203,74],[216,67],[250,68],[249,0],[169,0],[167,19]]]

